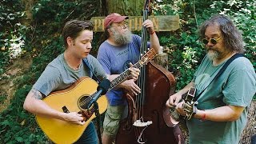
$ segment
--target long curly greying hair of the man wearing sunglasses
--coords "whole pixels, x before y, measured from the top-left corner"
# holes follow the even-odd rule
[[[222,32],[224,45],[227,49],[238,53],[244,53],[244,42],[241,32],[234,26],[234,23],[225,15],[216,15],[202,23],[199,29],[200,38],[205,38],[206,28],[210,25],[217,25]]]

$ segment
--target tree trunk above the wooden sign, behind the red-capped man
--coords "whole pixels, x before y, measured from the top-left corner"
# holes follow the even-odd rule
[[[108,14],[118,13],[122,15],[142,15],[144,1],[138,0],[106,0]]]

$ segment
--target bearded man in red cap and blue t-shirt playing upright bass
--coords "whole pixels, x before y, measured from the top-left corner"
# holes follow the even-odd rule
[[[129,68],[131,63],[138,62],[140,57],[139,50],[142,45],[142,38],[128,30],[126,19],[128,19],[127,16],[114,13],[109,14],[104,21],[106,41],[102,42],[99,47],[97,58],[102,64],[103,69],[106,70],[106,74],[110,74],[110,81],[111,78],[116,78],[118,74]],[[154,31],[153,22],[147,19],[142,23],[142,26],[146,26],[150,33],[148,47],[153,47],[158,52],[160,44],[158,36]],[[119,122],[127,105],[126,98],[123,96],[123,90],[137,95],[141,89],[134,80],[126,80],[118,88],[110,90],[106,94],[109,105],[103,122],[103,144],[112,143],[115,135],[118,133]]]

